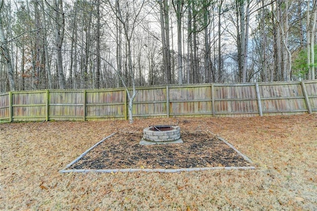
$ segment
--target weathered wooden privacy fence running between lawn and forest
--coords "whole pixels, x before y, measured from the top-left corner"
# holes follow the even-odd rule
[[[9,92],[0,121],[127,119],[127,105],[123,88]],[[317,113],[317,80],[139,87],[133,103],[136,118],[303,113]]]

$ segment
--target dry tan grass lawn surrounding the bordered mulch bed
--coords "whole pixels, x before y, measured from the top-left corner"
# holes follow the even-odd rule
[[[177,122],[223,137],[257,168],[58,172],[113,132]],[[317,210],[317,115],[0,124],[0,210],[149,209]]]

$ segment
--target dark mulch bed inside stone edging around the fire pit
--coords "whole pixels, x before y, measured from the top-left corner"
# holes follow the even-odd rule
[[[232,148],[206,132],[182,131],[182,144],[140,146],[142,136],[142,133],[116,133],[68,169],[251,166]]]

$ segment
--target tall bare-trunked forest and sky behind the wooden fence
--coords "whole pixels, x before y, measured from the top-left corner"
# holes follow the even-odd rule
[[[0,0],[0,92],[314,80],[316,18],[317,0]]]

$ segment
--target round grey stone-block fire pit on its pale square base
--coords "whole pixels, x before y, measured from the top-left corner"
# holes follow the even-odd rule
[[[183,143],[180,127],[172,125],[154,125],[143,130],[140,145]]]

